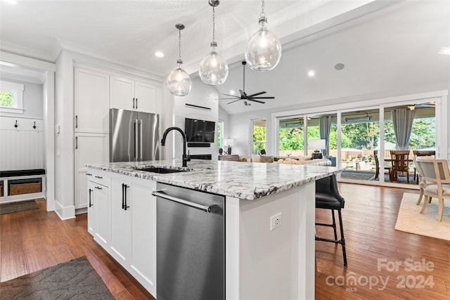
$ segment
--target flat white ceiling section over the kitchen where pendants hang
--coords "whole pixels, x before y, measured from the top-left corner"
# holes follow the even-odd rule
[[[178,32],[174,25],[181,22],[186,26],[181,32],[181,56],[184,68],[192,74],[212,41],[212,7],[207,0],[17,0],[15,5],[4,1],[0,5],[1,49],[51,62],[61,48],[68,48],[165,77],[176,67]],[[383,6],[387,4],[366,0],[268,0],[264,11],[269,28],[287,43],[311,34],[311,27],[319,30],[330,20],[342,22]],[[233,63],[258,29],[261,1],[224,0],[215,10],[217,50]],[[157,58],[156,51],[165,57]]]

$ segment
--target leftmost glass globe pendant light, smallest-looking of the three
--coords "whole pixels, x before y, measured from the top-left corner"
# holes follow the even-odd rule
[[[184,30],[184,25],[176,24],[175,27],[178,30],[178,60],[176,60],[178,67],[167,77],[167,88],[175,96],[186,96],[191,91],[192,81],[189,74],[181,68],[183,64],[183,60],[181,60],[181,30]]]

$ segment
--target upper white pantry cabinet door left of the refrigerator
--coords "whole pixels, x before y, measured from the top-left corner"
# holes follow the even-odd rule
[[[75,131],[109,132],[108,74],[75,67]]]

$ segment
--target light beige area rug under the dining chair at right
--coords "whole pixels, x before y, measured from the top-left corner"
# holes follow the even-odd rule
[[[450,200],[444,200],[442,222],[437,221],[439,209],[437,199],[434,198],[427,204],[423,214],[420,214],[420,209],[425,197],[422,198],[420,205],[416,205],[417,200],[418,194],[403,194],[395,230],[450,241]]]

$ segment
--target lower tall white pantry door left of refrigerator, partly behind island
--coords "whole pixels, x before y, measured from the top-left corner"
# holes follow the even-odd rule
[[[75,133],[75,209],[87,207],[87,168],[84,164],[109,161],[108,134]]]

